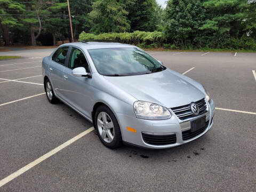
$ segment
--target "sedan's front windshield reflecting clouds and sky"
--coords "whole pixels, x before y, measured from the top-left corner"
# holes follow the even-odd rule
[[[129,76],[165,70],[157,60],[138,48],[108,48],[88,50],[101,75]]]

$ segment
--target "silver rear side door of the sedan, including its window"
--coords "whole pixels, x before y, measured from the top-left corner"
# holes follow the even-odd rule
[[[69,46],[60,47],[52,56],[52,60],[49,65],[50,79],[54,89],[55,94],[63,98],[62,87],[64,83],[63,71],[65,65],[67,65],[67,54]]]

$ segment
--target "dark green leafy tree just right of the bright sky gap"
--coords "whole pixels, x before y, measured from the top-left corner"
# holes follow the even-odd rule
[[[169,0],[165,9],[165,33],[169,41],[186,45],[196,43],[204,24],[205,10],[200,0]]]

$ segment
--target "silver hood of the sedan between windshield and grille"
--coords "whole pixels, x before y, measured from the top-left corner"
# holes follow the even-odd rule
[[[200,84],[170,69],[145,75],[105,78],[140,101],[157,103],[167,108],[187,105],[205,97],[198,88]]]

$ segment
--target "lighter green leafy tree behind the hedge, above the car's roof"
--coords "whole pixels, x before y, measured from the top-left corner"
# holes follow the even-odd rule
[[[94,23],[90,30],[92,33],[124,32],[130,29],[128,12],[116,0],[98,0],[92,7],[93,10],[89,14]]]

